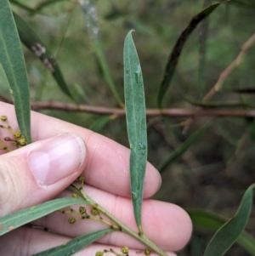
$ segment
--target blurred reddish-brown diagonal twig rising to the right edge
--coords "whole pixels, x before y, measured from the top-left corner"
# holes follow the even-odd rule
[[[220,74],[218,77],[218,81],[213,85],[211,90],[204,96],[202,101],[208,101],[212,99],[212,96],[216,94],[221,88],[226,80],[227,77],[229,77],[229,74],[235,70],[235,67],[241,64],[241,60],[243,60],[246,51],[252,46],[252,44],[255,43],[255,33],[250,37],[246,43],[244,43],[241,47],[240,53],[237,55],[235,60]],[[197,111],[201,110],[201,107],[196,108]],[[184,133],[187,132],[187,130],[190,128],[190,124],[193,122],[193,117],[190,117],[186,120],[185,126],[184,126]]]

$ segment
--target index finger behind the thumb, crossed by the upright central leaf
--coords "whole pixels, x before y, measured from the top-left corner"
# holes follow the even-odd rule
[[[13,105],[0,104],[3,114],[14,118]],[[78,134],[88,147],[88,165],[84,170],[86,183],[119,196],[130,196],[130,151],[126,147],[86,128],[36,112],[31,112],[31,131],[34,141],[63,133]],[[160,174],[148,163],[144,181],[144,198],[155,194],[160,185]]]

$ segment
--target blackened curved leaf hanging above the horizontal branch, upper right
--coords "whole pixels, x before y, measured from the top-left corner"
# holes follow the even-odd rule
[[[228,2],[228,1],[224,1],[222,3],[225,3],[225,2]],[[178,64],[178,58],[184,48],[184,43],[190,37],[191,32],[194,31],[195,27],[201,22],[201,20],[204,20],[210,14],[212,14],[214,9],[216,9],[219,4],[220,3],[214,3],[209,7],[207,7],[206,9],[202,10],[201,13],[196,14],[192,18],[192,20],[190,20],[190,24],[185,28],[185,30],[178,37],[178,40],[175,43],[170,56],[168,57],[167,65],[164,71],[164,76],[162,78],[162,82],[159,88],[159,93],[157,97],[157,104],[159,108],[162,107],[162,100],[165,94],[167,93],[167,89],[169,88],[170,82],[173,78],[176,65]]]

